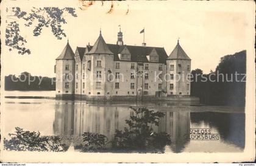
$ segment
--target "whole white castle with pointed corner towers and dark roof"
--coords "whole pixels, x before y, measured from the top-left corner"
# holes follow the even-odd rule
[[[93,46],[69,42],[56,58],[56,97],[63,99],[149,99],[189,96],[191,59],[177,42],[168,56],[163,47],[106,44],[101,32]]]

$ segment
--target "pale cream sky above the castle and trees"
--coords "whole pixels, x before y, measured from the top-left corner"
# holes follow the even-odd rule
[[[215,3],[215,4],[213,4]],[[176,1],[122,1],[113,2],[113,12],[107,13],[111,2],[94,2],[84,10],[76,1],[77,17],[65,14],[67,24],[62,27],[66,38],[57,40],[51,29],[43,29],[40,36],[33,36],[34,27],[20,26],[30,55],[9,52],[4,47],[4,75],[27,71],[32,75],[55,77],[54,64],[69,39],[73,51],[76,47],[91,45],[99,36],[99,29],[106,43],[117,41],[118,25],[121,25],[124,44],[141,46],[145,29],[147,46],[164,47],[169,55],[177,44],[191,58],[191,69],[204,73],[215,71],[220,58],[246,49],[247,30],[250,25],[246,5],[223,2]],[[225,2],[224,2],[225,3]],[[33,4],[21,5],[29,11]],[[67,5],[67,4],[66,4]],[[71,4],[70,4],[71,5]],[[126,15],[127,9],[129,13]]]

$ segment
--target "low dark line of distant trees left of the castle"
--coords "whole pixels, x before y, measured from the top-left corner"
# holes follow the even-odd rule
[[[5,76],[6,91],[55,91],[55,78],[32,76],[28,72]]]

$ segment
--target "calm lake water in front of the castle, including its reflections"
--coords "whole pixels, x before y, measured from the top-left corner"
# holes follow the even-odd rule
[[[53,91],[5,91],[5,96],[53,97]],[[44,136],[63,136],[66,144],[80,144],[84,132],[100,133],[113,138],[123,130],[132,110],[129,106],[146,106],[165,113],[155,132],[164,131],[172,144],[166,152],[230,152],[244,148],[244,107],[191,106],[186,102],[91,103],[52,99],[4,99],[4,137],[18,126],[40,131]],[[190,132],[208,129],[219,139],[192,139]],[[188,137],[191,139],[188,139]],[[211,135],[209,135],[210,137]],[[72,138],[72,139],[69,139]]]

